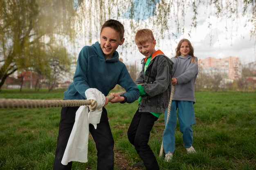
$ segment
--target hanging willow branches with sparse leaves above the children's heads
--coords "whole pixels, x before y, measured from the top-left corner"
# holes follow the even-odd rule
[[[134,46],[138,29],[152,29],[155,38],[161,40],[177,38],[185,33],[185,27],[190,26],[187,32],[190,36],[191,30],[196,29],[202,19],[209,20],[210,30],[213,17],[231,23],[226,26],[226,31],[236,27],[237,20],[246,18],[253,25],[251,36],[255,38],[255,11],[255,0],[83,0],[77,11],[76,29],[85,44],[90,44],[98,40],[103,22],[108,19],[119,20],[126,29],[126,43],[121,48],[129,51]]]

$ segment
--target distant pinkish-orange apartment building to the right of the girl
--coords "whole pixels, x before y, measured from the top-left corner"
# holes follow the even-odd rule
[[[242,66],[238,57],[226,57],[216,59],[208,57],[198,60],[198,67],[204,72],[218,72],[226,79],[234,80],[241,77]]]

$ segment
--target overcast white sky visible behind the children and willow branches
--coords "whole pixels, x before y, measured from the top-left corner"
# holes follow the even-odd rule
[[[192,9],[187,9],[184,33],[178,34],[177,38],[172,37],[171,39],[157,42],[156,49],[162,50],[168,57],[173,57],[177,43],[182,38],[187,38],[194,47],[194,55],[199,59],[232,56],[239,57],[242,64],[256,61],[256,38],[255,36],[251,38],[250,30],[252,30],[253,25],[251,22],[247,21],[250,13],[247,13],[247,15],[243,17],[242,12],[238,11],[238,13],[234,14],[233,18],[227,19],[217,18],[211,15],[207,10],[209,10],[209,8],[204,8],[203,6],[199,7],[198,11],[200,12],[198,12],[197,17],[198,25],[195,29],[191,29],[191,16],[193,13]],[[146,11],[143,13],[146,13]],[[148,22],[148,20],[154,18],[154,16],[141,16],[140,14],[137,16],[143,18],[142,20],[144,22]],[[127,14],[125,14],[125,16],[126,15]],[[147,17],[145,18],[145,16]],[[139,18],[135,19],[139,20]],[[124,23],[128,22],[129,19],[124,20]],[[209,22],[211,22],[211,28],[208,28]],[[144,24],[141,25],[141,28],[138,29],[145,28],[145,26],[143,26]],[[152,26],[149,24],[147,28],[151,29]],[[189,31],[191,31],[190,36],[188,34]],[[126,38],[126,40],[129,39]],[[125,57],[124,62],[134,62],[141,60],[143,57],[144,56],[137,51],[135,55]]]

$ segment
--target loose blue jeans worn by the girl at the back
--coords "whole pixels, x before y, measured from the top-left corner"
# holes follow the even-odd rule
[[[175,129],[177,125],[177,115],[180,124],[180,132],[185,148],[189,148],[193,144],[193,129],[195,124],[195,113],[193,102],[173,100],[171,104],[171,112],[167,120],[168,109],[164,113],[165,129],[163,134],[164,152],[173,153],[175,150]]]

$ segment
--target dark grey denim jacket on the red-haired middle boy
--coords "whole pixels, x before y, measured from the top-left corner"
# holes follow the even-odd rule
[[[144,74],[145,61],[142,60],[142,71],[135,81],[136,84],[142,84],[147,93],[141,96],[139,112],[164,113],[171,95],[173,62],[166,55],[158,54],[151,59]]]

